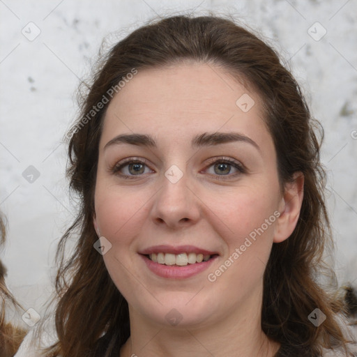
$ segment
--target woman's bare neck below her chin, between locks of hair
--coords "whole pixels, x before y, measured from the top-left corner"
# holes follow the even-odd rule
[[[259,294],[258,294],[259,295]],[[244,306],[204,326],[160,326],[130,308],[130,338],[121,357],[273,357],[280,344],[261,330],[261,308]]]

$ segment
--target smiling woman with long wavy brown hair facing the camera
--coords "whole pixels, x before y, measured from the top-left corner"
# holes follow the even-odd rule
[[[316,124],[230,20],[169,17],[117,43],[68,133],[81,204],[44,356],[352,356],[333,273],[317,282]]]

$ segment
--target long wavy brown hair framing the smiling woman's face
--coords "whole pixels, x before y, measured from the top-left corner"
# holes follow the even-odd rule
[[[325,173],[319,162],[321,127],[311,117],[300,87],[278,54],[252,31],[213,15],[167,17],[133,31],[105,56],[79,103],[79,117],[68,132],[67,172],[70,188],[78,197],[78,215],[57,251],[58,342],[47,351],[61,357],[91,356],[105,335],[103,351],[109,356],[114,345],[121,346],[130,335],[128,303],[93,249],[98,239],[93,227],[98,144],[111,98],[107,96],[101,109],[97,105],[133,68],[160,68],[186,59],[223,68],[252,86],[264,103],[282,188],[295,172],[305,176],[296,229],[286,241],[273,244],[266,266],[261,315],[264,333],[282,345],[300,346],[309,356],[320,356],[324,348],[347,354],[347,340],[337,319],[337,313],[344,310],[333,272],[327,270],[324,286],[317,281],[326,271],[324,250],[332,245],[324,200]],[[95,113],[93,107],[98,109]],[[75,250],[66,259],[66,242],[72,236],[76,237]],[[326,315],[317,327],[308,319],[316,308]]]

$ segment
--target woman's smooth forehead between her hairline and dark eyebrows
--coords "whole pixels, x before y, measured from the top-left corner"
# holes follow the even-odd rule
[[[145,132],[170,142],[229,130],[269,140],[259,96],[218,66],[181,63],[138,70],[110,102],[102,137]]]

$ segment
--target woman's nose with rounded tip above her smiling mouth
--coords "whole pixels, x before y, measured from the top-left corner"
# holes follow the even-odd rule
[[[193,225],[199,220],[201,201],[189,187],[188,181],[186,174],[176,183],[163,176],[162,188],[155,195],[151,210],[156,225],[178,229]]]

